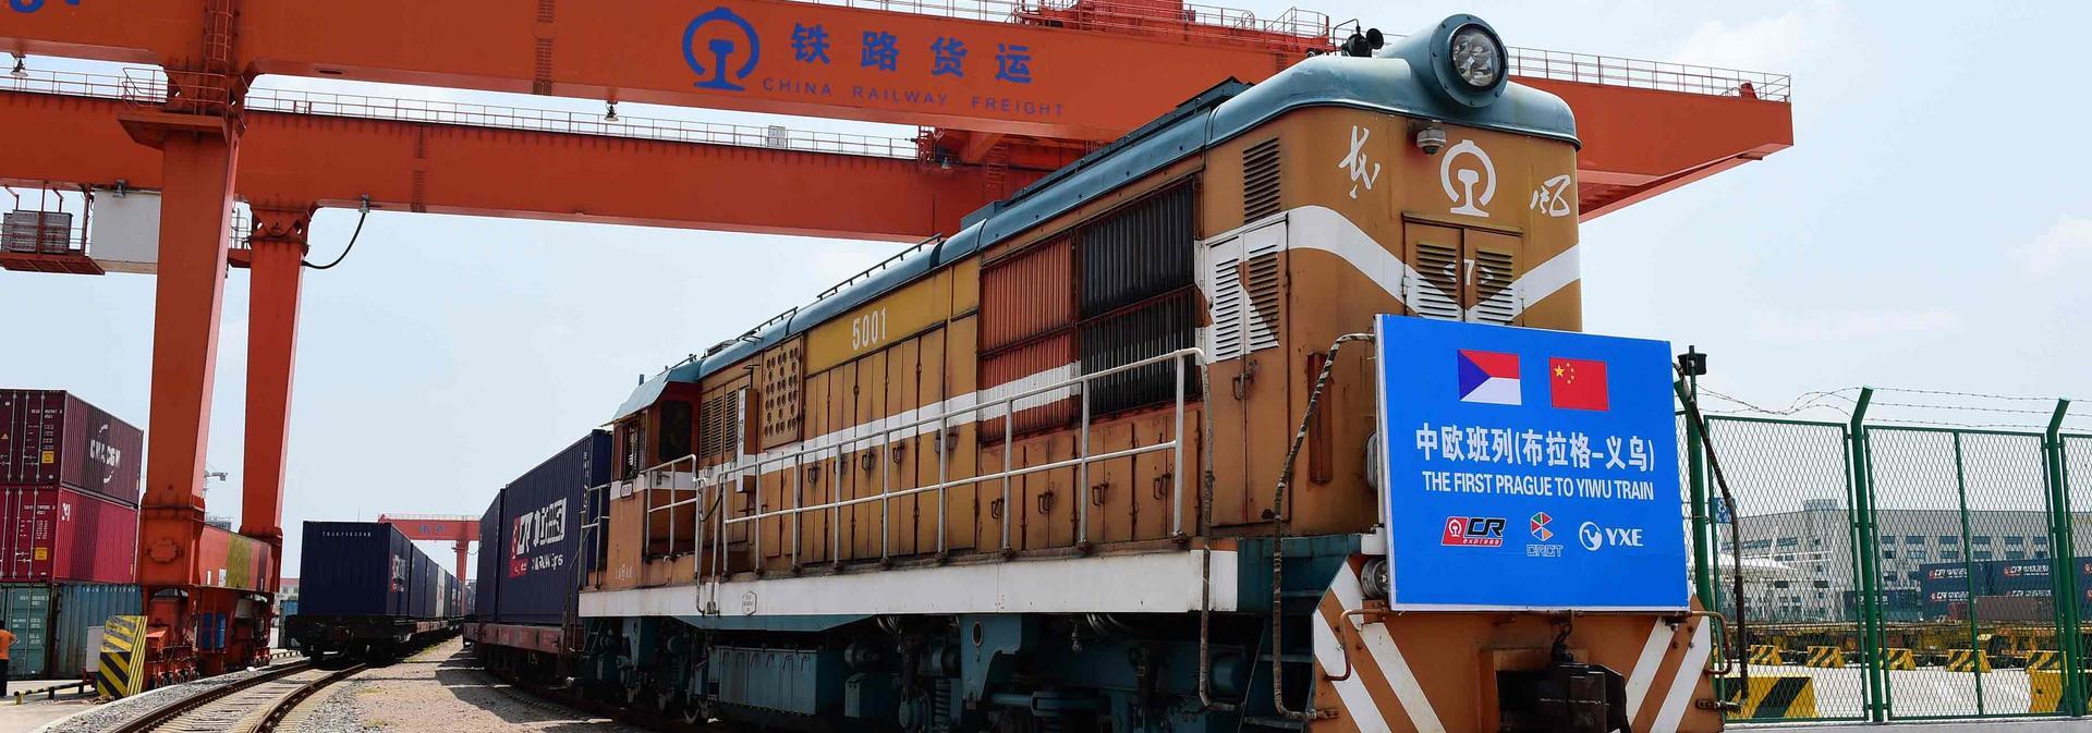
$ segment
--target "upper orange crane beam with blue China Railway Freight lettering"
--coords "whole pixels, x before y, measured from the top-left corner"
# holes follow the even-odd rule
[[[192,67],[207,4],[48,2],[8,19],[0,48]],[[893,13],[908,6],[245,0],[232,50],[262,75],[1111,140],[1230,75],[1270,77],[1328,33],[1326,21],[1266,31],[1094,2],[1102,10],[1079,17],[1002,2]]]

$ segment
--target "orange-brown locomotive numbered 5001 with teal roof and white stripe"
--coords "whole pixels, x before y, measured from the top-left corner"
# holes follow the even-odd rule
[[[575,587],[483,595],[481,620],[531,618],[475,624],[481,656],[766,729],[1720,729],[1682,558],[1648,574],[1678,578],[1663,608],[1393,597],[1410,518],[1379,466],[1408,445],[1335,345],[1404,322],[1381,313],[1582,328],[1575,121],[1506,65],[1456,15],[1215,86],[644,380],[590,441],[609,476],[561,470],[567,514],[531,493],[490,522],[517,533],[485,535],[498,574]],[[1517,405],[1490,363],[1510,395],[1475,401]],[[1659,370],[1653,476],[1676,474]],[[1596,378],[1569,407],[1605,411]],[[519,555],[546,522],[563,560]],[[1531,541],[1510,522],[1454,518],[1446,545],[1563,551],[1544,512]]]

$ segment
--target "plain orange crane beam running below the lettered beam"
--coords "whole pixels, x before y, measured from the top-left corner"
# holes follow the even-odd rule
[[[23,184],[163,188],[159,150],[132,144],[113,98],[0,92],[0,150]],[[1013,169],[1013,184],[1040,171]],[[544,129],[247,113],[241,196],[257,209],[358,207],[563,221],[920,240],[994,198],[983,169],[914,159],[636,140]],[[820,207],[803,207],[822,200]]]

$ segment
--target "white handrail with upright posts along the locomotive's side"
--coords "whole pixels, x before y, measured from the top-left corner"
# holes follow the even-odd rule
[[[1192,361],[1192,359],[1199,359],[1199,361]],[[1077,472],[1077,480],[1075,480],[1075,491],[1077,491],[1077,495],[1075,495],[1075,514],[1077,514],[1077,522],[1075,524],[1077,524],[1077,535],[1075,535],[1075,541],[1077,541],[1077,547],[1090,547],[1090,499],[1092,499],[1090,497],[1092,487],[1088,482],[1088,468],[1090,468],[1090,464],[1169,451],[1174,455],[1174,462],[1172,462],[1172,468],[1169,468],[1169,482],[1172,482],[1172,493],[1169,493],[1172,524],[1169,524],[1169,530],[1172,530],[1174,537],[1182,539],[1184,537],[1184,447],[1186,447],[1186,439],[1184,439],[1184,405],[1186,405],[1184,380],[1190,376],[1188,370],[1192,368],[1192,363],[1203,363],[1203,359],[1205,359],[1205,351],[1203,349],[1178,349],[1178,351],[1172,351],[1172,353],[1163,353],[1163,355],[1155,355],[1155,357],[1130,361],[1130,363],[1123,363],[1123,365],[1115,365],[1115,368],[1107,368],[1107,370],[1098,370],[1098,372],[1090,372],[1090,374],[1077,374],[1077,376],[1065,378],[1065,380],[1050,382],[1050,384],[1023,388],[1023,391],[1017,391],[1017,393],[1010,393],[1010,395],[1002,395],[1002,397],[996,397],[996,399],[979,401],[975,405],[964,405],[964,407],[946,405],[946,403],[925,405],[925,407],[918,407],[914,411],[918,411],[918,413],[931,413],[931,411],[935,411],[935,413],[927,416],[927,418],[906,420],[906,422],[897,422],[893,418],[885,418],[885,420],[879,420],[874,424],[858,428],[858,430],[862,430],[862,434],[835,436],[835,439],[828,439],[828,441],[810,439],[810,441],[801,443],[799,449],[782,451],[782,453],[761,453],[761,455],[745,455],[743,453],[741,457],[736,457],[732,462],[726,462],[726,464],[720,464],[720,466],[711,466],[711,468],[701,468],[699,466],[701,457],[695,455],[695,453],[690,453],[690,455],[682,455],[682,457],[676,457],[676,459],[667,459],[667,462],[649,466],[644,470],[634,472],[632,478],[613,480],[609,484],[602,484],[602,487],[596,487],[596,489],[590,489],[590,491],[611,491],[617,484],[630,484],[636,493],[638,491],[657,491],[657,489],[672,491],[669,501],[665,501],[661,505],[653,505],[655,497],[651,493],[646,497],[640,497],[640,507],[642,507],[642,516],[644,516],[644,520],[640,522],[640,547],[642,547],[640,551],[642,551],[642,555],[646,555],[646,558],[661,558],[661,555],[665,555],[665,558],[678,558],[678,555],[682,555],[682,553],[676,551],[678,549],[678,539],[680,539],[678,524],[690,524],[688,526],[688,530],[690,530],[688,537],[692,541],[688,545],[690,553],[711,553],[713,555],[711,574],[713,574],[713,578],[718,578],[718,576],[728,574],[726,545],[732,541],[728,537],[728,530],[732,526],[736,526],[736,524],[749,524],[749,522],[759,522],[759,520],[768,520],[768,518],[784,518],[784,516],[789,516],[791,524],[793,524],[791,537],[789,537],[789,541],[791,541],[791,555],[793,555],[793,564],[797,566],[799,564],[799,551],[801,551],[801,545],[803,545],[799,541],[799,524],[801,524],[799,516],[808,514],[808,512],[831,512],[831,516],[835,516],[835,520],[831,522],[831,530],[828,530],[828,535],[831,535],[828,537],[828,541],[831,541],[831,558],[837,558],[837,562],[841,562],[839,560],[841,558],[841,510],[856,507],[856,505],[879,503],[881,505],[881,558],[885,560],[885,558],[891,558],[891,551],[893,551],[893,533],[891,533],[891,501],[893,499],[904,499],[904,497],[933,493],[933,491],[939,493],[939,497],[941,497],[946,491],[956,489],[956,487],[985,484],[985,482],[998,482],[1000,480],[1002,482],[1002,505],[1010,507],[1010,482],[1015,478],[1029,476],[1029,474],[1040,474],[1040,472],[1050,472],[1050,470],[1067,470],[1067,468],[1075,468],[1075,472]],[[1092,409],[1090,409],[1092,382],[1100,380],[1100,378],[1109,378],[1109,376],[1128,374],[1128,372],[1134,372],[1134,370],[1159,365],[1159,363],[1172,363],[1174,365],[1172,378],[1174,378],[1174,391],[1176,391],[1176,395],[1174,395],[1174,401],[1172,401],[1174,430],[1172,430],[1169,441],[1151,443],[1151,445],[1138,445],[1138,447],[1130,447],[1130,449],[1117,449],[1117,451],[1107,451],[1107,453],[1094,453],[1092,455],[1090,453],[1090,441],[1088,441],[1088,432],[1092,428],[1092,418],[1094,418]],[[1059,401],[1059,399],[1067,399],[1067,397],[1054,395],[1054,393],[1063,393],[1063,391],[1069,393],[1067,397],[1075,397],[1079,401],[1079,407],[1082,407],[1082,418],[1077,422],[1077,426],[1082,430],[1079,432],[1082,439],[1077,439],[1077,455],[1075,457],[1067,457],[1067,459],[1059,459],[1059,462],[1050,462],[1050,464],[1040,464],[1040,466],[1021,466],[1021,468],[1015,466],[1010,449],[1008,449],[1015,443],[1015,420],[1013,418],[1019,411],[1040,407],[1040,405],[1021,405],[1021,403],[1036,401],[1042,395],[1052,395],[1050,399],[1046,399],[1046,403],[1052,403],[1052,401]],[[985,422],[985,420],[1002,418],[1002,432],[1004,432],[1002,434],[1002,447],[1004,447],[1002,449],[1002,470],[987,472],[987,474],[977,474],[977,476],[952,478],[950,476],[950,451],[952,451],[950,441],[952,441],[952,428],[954,428],[956,420],[967,420],[969,416],[971,416],[973,422]],[[803,487],[808,480],[818,480],[818,478],[810,478],[805,474],[808,468],[818,468],[818,466],[822,466],[826,462],[847,459],[847,457],[851,457],[851,455],[856,455],[860,451],[879,451],[881,455],[887,455],[889,447],[895,443],[895,434],[900,434],[900,441],[910,441],[910,439],[918,439],[923,434],[931,434],[931,430],[925,430],[929,426],[935,426],[933,434],[937,436],[935,439],[937,445],[933,449],[933,453],[937,453],[937,482],[923,484],[923,487],[910,487],[910,489],[893,489],[891,487],[891,474],[893,474],[893,470],[891,470],[891,466],[887,466],[889,462],[881,462],[879,493],[801,505],[797,501],[797,491],[793,491],[793,493],[787,493],[791,497],[789,501],[793,503],[789,507],[766,510],[761,505],[761,497],[757,495],[755,510],[751,514],[730,516],[732,512],[722,512],[720,510],[724,505],[724,493],[728,491],[726,487],[738,487],[749,476],[761,478],[764,474],[770,474],[770,472],[784,472],[784,468],[778,468],[778,466],[780,464],[791,464],[791,468],[789,468],[791,474],[795,476],[797,484]],[[856,430],[851,430],[851,432],[856,432]],[[690,484],[688,487],[682,484],[682,478],[678,474],[688,474],[690,476]],[[667,487],[661,487],[663,478],[669,480]],[[678,497],[676,495],[676,493],[682,493],[682,491],[690,491],[690,497]],[[697,505],[697,510],[692,512],[692,518],[686,520],[686,522],[684,520],[676,520],[674,512],[680,510],[680,507],[686,507],[686,505]],[[946,505],[948,505],[946,501],[937,503],[937,553],[939,555],[950,549],[948,537],[946,537]],[[653,539],[657,535],[655,526],[653,526],[653,516],[659,514],[659,512],[672,512],[669,514],[669,522],[667,522],[667,537],[665,537],[667,539],[667,551],[663,551],[663,553],[655,553],[653,551]],[[1002,520],[1002,526],[1000,526],[1002,528],[1002,547],[1000,549],[1004,553],[1008,553],[1010,547],[1013,547],[1013,543],[1010,543],[1010,516],[1013,514],[1015,512],[1004,510],[1002,516],[1000,516],[1000,520]],[[586,530],[605,530],[602,528],[602,518],[590,518],[582,526]],[[761,537],[761,524],[753,524],[749,528],[747,537],[749,537],[749,543],[751,543],[751,553],[755,558],[761,558],[761,547],[764,547],[761,545],[761,541],[764,541],[764,537]],[[697,572],[699,572],[699,576],[705,574],[705,564],[703,562],[697,564]],[[713,581],[713,583],[718,583],[718,581]]]

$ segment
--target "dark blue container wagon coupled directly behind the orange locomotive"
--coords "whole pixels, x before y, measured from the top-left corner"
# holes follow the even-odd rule
[[[479,578],[464,641],[490,670],[556,683],[573,656],[582,501],[611,478],[611,434],[592,430],[494,493],[479,520]],[[600,507],[596,514],[602,514]],[[594,537],[602,541],[602,537]]]

